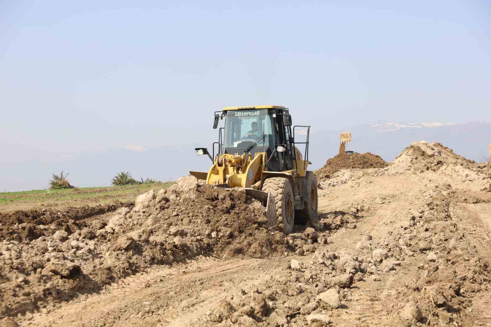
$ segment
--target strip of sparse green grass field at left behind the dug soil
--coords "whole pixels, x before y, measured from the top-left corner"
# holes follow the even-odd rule
[[[30,209],[36,206],[82,206],[107,204],[114,201],[131,201],[139,194],[154,189],[159,191],[170,187],[174,182],[137,184],[125,186],[33,190],[21,192],[0,192],[0,210]]]

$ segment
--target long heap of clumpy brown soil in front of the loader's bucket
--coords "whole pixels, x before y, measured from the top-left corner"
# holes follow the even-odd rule
[[[133,207],[109,209],[2,215],[1,315],[36,311],[43,302],[96,292],[152,265],[199,255],[311,253],[322,236],[307,228],[285,237],[267,228],[264,207],[245,190],[198,185],[192,176],[139,195]],[[313,223],[318,230],[331,226],[327,220]]]

